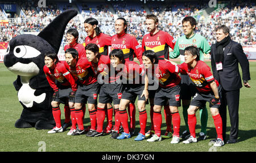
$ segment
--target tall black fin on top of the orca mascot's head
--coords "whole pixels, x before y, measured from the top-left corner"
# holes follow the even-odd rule
[[[77,15],[77,10],[66,10],[58,15],[38,36],[46,40],[57,54],[68,22]]]

